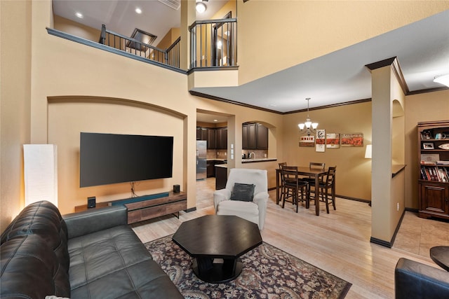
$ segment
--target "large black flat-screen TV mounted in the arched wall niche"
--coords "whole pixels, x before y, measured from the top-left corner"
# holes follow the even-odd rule
[[[173,137],[81,132],[79,186],[173,175]]]

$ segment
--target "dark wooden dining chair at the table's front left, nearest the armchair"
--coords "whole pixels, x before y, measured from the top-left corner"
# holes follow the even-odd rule
[[[281,181],[283,186],[283,188],[281,189],[282,208],[285,207],[286,201],[288,201],[288,197],[291,197],[292,203],[296,204],[296,212],[298,211],[300,201],[306,202],[306,207],[309,207],[309,201],[307,200],[308,183],[299,179],[297,174],[297,166],[282,166]]]

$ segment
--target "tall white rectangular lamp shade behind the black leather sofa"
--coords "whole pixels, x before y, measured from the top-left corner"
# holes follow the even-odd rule
[[[25,206],[48,200],[58,207],[58,159],[54,144],[23,145]]]

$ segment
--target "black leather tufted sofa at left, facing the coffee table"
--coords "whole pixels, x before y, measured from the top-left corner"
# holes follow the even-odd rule
[[[183,298],[126,223],[124,206],[30,204],[1,234],[0,297]]]

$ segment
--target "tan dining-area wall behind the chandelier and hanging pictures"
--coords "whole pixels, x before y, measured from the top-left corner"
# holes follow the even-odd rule
[[[371,160],[365,159],[365,148],[371,144],[371,102],[313,110],[309,116],[326,133],[363,133],[363,147],[326,148],[324,153],[300,147],[297,124],[304,123],[307,113],[292,113],[283,116],[283,159],[279,162],[300,166],[325,162],[327,167],[337,166],[336,193],[370,200]]]

